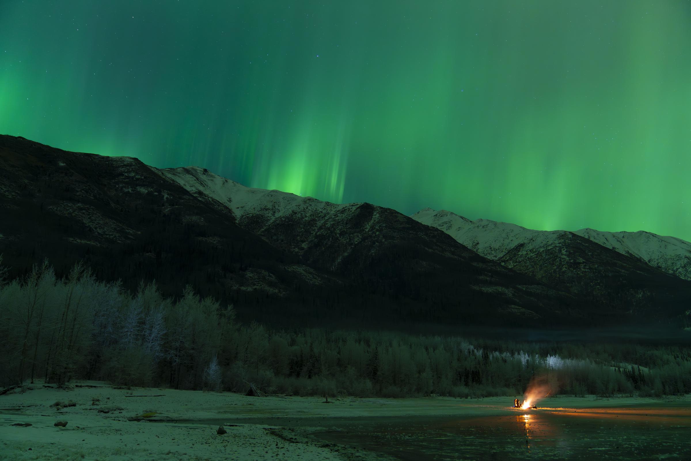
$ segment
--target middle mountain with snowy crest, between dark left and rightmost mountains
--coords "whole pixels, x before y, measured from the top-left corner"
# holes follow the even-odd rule
[[[547,305],[556,313],[558,305],[578,304],[393,209],[253,189],[198,167],[155,171],[200,200],[230,211],[241,227],[268,243],[306,263],[355,279],[373,292],[409,292],[437,305],[448,303],[439,297],[451,289],[457,310],[487,298],[502,305],[500,311],[507,316],[531,319],[540,317],[536,312],[544,312]],[[420,283],[424,290],[415,286]],[[522,307],[526,305],[531,308]]]

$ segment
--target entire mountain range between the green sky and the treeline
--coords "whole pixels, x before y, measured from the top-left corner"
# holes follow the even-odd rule
[[[571,232],[477,220],[513,232],[513,243],[489,231],[469,243],[493,261],[448,223],[444,232],[386,207],[252,189],[202,168],[0,135],[0,171],[0,254],[14,274],[36,258],[61,271],[82,261],[128,289],[155,280],[175,296],[190,283],[245,319],[621,326],[676,322],[691,305],[690,281]]]

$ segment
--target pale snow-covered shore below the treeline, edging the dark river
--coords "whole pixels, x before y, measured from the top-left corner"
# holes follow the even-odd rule
[[[472,416],[513,411],[508,397],[343,397],[323,404],[323,397],[249,397],[122,388],[104,382],[75,382],[68,389],[43,384],[31,387],[0,396],[0,460],[381,460],[386,457],[380,453],[323,444],[310,438],[314,431],[310,428],[319,428],[328,417]],[[688,401],[689,396],[677,399]],[[62,406],[55,406],[57,402]],[[70,402],[75,406],[65,406]],[[654,402],[662,401],[638,397],[549,399],[550,406],[571,408]],[[243,423],[262,418],[285,418],[287,424]],[[314,418],[314,425],[303,421],[291,426],[290,419],[295,418]],[[67,426],[54,426],[59,420],[68,422]],[[203,424],[205,420],[226,420],[227,433],[218,435],[218,426]]]

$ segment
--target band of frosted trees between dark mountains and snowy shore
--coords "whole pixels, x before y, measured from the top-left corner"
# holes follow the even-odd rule
[[[1,275],[1,274],[0,274]],[[534,376],[571,395],[691,392],[681,346],[515,343],[398,332],[279,331],[235,320],[232,306],[137,292],[84,267],[48,263],[0,287],[0,380],[105,379],[131,386],[404,397],[520,395]],[[635,361],[633,360],[635,359]]]

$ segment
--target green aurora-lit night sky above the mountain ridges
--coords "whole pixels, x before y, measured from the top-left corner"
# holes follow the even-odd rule
[[[691,240],[691,2],[4,0],[0,133]]]

